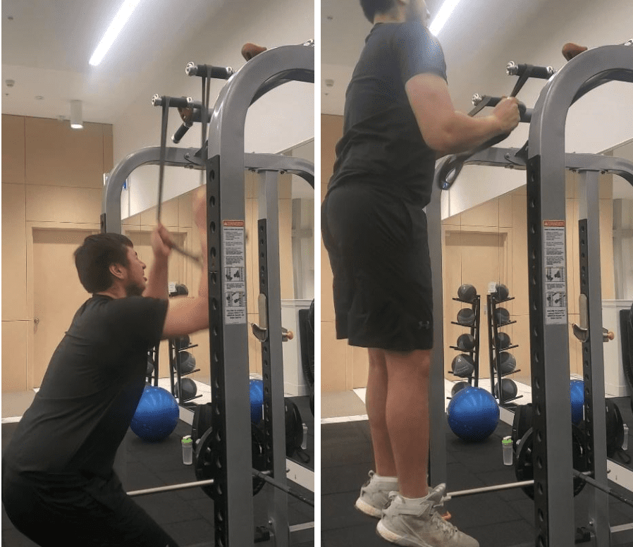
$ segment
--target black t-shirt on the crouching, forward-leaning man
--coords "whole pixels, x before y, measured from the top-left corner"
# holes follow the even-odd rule
[[[109,478],[145,387],[167,301],[94,295],[57,346],[4,465],[35,479]]]

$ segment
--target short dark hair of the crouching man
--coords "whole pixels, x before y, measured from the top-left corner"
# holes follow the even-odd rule
[[[85,238],[81,247],[75,250],[75,266],[79,281],[89,293],[108,290],[113,283],[111,264],[127,267],[128,247],[132,242],[120,233],[97,233]]]

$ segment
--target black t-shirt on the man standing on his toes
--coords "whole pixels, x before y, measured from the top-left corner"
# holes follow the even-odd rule
[[[446,79],[441,45],[422,23],[374,25],[345,95],[343,138],[329,188],[354,181],[425,207],[435,152],[420,133],[405,83],[434,73]]]

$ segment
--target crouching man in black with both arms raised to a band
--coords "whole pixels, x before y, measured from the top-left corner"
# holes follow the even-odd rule
[[[194,209],[206,257],[204,192]],[[161,338],[209,327],[206,264],[197,297],[167,300],[172,245],[159,224],[147,278],[124,235],[90,235],[75,251],[80,281],[92,297],[51,357],[2,460],[6,512],[41,546],[177,546],[113,472],[145,388],[147,350]]]

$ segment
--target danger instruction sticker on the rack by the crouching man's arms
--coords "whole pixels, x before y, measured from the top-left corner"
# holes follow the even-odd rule
[[[223,221],[224,323],[246,323],[244,221]]]

